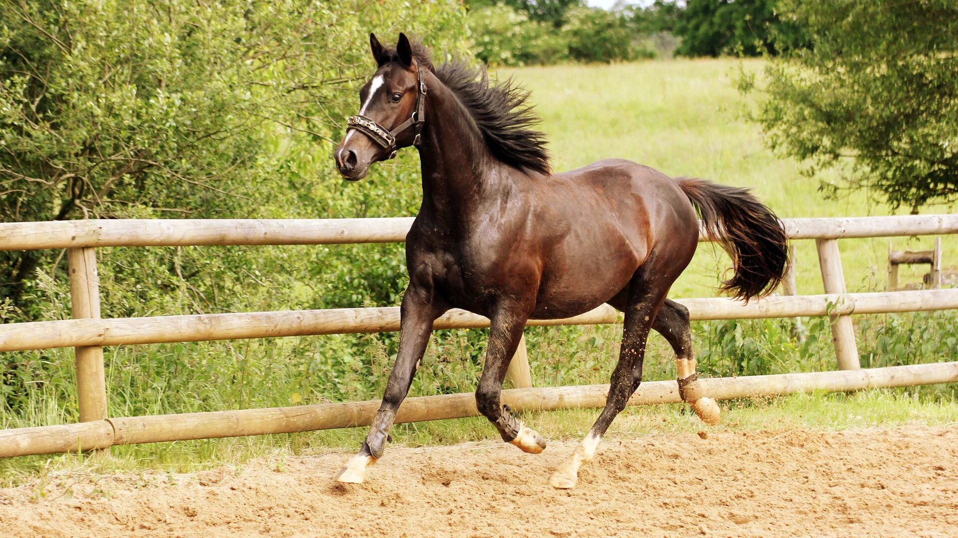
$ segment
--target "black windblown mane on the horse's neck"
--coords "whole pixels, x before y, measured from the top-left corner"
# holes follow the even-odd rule
[[[515,85],[513,78],[492,85],[484,68],[473,69],[464,61],[451,61],[436,68],[422,43],[413,41],[411,45],[417,65],[432,71],[456,94],[496,159],[515,168],[550,173],[545,135],[533,128],[539,118],[527,103],[529,92]],[[399,61],[393,49],[384,54]]]

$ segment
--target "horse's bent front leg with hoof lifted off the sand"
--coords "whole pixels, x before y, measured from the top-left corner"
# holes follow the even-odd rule
[[[476,388],[476,407],[479,413],[489,418],[502,440],[523,452],[539,454],[545,450],[545,439],[515,418],[499,400],[506,370],[519,345],[527,318],[528,314],[517,304],[500,307],[492,315],[486,366]]]

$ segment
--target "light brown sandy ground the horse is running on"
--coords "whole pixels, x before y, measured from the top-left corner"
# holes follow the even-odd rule
[[[0,533],[958,536],[958,424],[610,437],[575,489],[549,487],[575,444],[538,456],[492,442],[392,447],[362,485],[331,481],[343,453],[192,474],[66,472],[0,489]]]

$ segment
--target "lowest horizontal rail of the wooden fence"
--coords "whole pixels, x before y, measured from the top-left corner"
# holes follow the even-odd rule
[[[702,391],[714,399],[735,399],[795,392],[849,392],[958,382],[958,362],[870,370],[818,371],[746,377],[703,378]],[[598,408],[608,385],[511,389],[503,403],[515,411]],[[629,405],[679,403],[674,381],[639,386]],[[74,452],[113,444],[137,444],[213,437],[259,436],[366,426],[379,400],[271,409],[247,409],[183,415],[128,416],[63,426],[0,430],[0,458]],[[420,422],[479,415],[473,393],[406,398],[397,422]]]

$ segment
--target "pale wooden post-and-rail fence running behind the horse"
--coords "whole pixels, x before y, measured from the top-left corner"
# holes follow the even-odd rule
[[[0,457],[105,448],[115,444],[235,437],[345,428],[369,424],[378,401],[273,409],[109,417],[103,347],[399,330],[399,308],[335,308],[101,319],[97,247],[292,245],[402,241],[413,218],[319,220],[73,220],[0,224],[0,250],[67,249],[72,320],[0,325],[0,351],[75,347],[80,423],[0,430]],[[958,214],[784,220],[791,239],[814,239],[825,294],[778,296],[747,304],[729,299],[683,299],[694,320],[830,316],[840,371],[703,379],[713,398],[814,390],[958,382],[958,362],[860,370],[851,315],[958,308],[958,290],[848,293],[836,239],[958,233]],[[703,240],[704,235],[703,235]],[[789,293],[794,293],[793,278]],[[565,320],[529,325],[613,324],[607,304]],[[451,310],[434,328],[488,327],[489,320]],[[528,385],[528,362],[513,360],[513,380]],[[523,382],[523,378],[526,380]],[[504,392],[516,410],[604,405],[606,385],[521,388]],[[630,404],[679,402],[674,381],[643,383]],[[408,398],[397,421],[478,415],[471,393]]]

